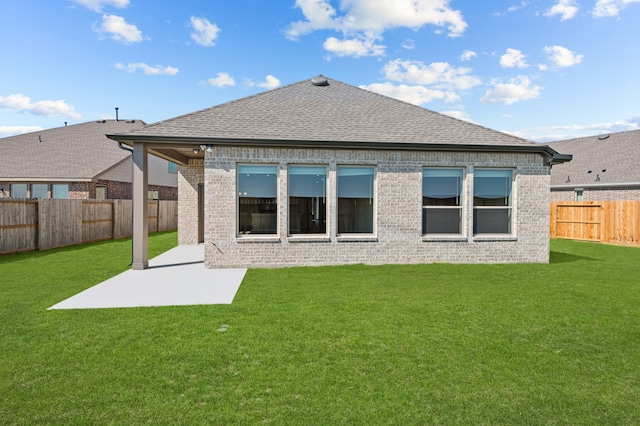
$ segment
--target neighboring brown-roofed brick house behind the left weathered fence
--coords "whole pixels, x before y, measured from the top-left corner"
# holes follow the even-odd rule
[[[144,125],[99,120],[0,139],[0,198],[131,198],[131,152],[106,134]],[[177,200],[177,166],[156,156],[149,164],[149,197]]]

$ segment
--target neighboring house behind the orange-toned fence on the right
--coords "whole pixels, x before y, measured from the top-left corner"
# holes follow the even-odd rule
[[[551,201],[640,200],[640,130],[549,143],[573,155],[551,171]]]

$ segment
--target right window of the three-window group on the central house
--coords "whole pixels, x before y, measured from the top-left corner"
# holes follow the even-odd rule
[[[338,233],[373,234],[373,167],[338,166]]]

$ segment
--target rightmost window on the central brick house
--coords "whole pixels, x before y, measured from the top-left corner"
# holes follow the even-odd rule
[[[478,170],[473,180],[473,233],[511,234],[511,170]]]

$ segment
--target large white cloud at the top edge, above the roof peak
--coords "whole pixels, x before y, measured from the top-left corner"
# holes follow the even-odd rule
[[[462,13],[449,7],[450,0],[343,0],[342,15],[338,15],[330,0],[296,0],[305,20],[296,21],[285,30],[291,40],[317,30],[342,32],[345,38],[359,40],[361,44],[382,40],[384,31],[405,27],[417,30],[425,25],[445,27],[450,37],[462,35],[467,23]],[[329,47],[340,47],[332,37]],[[325,43],[326,45],[327,43]],[[384,48],[383,46],[379,46]],[[354,50],[342,47],[342,51]],[[355,49],[356,52],[360,50]],[[364,56],[364,55],[360,55]]]

